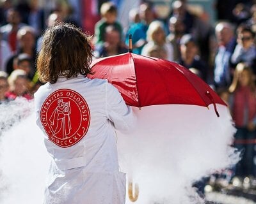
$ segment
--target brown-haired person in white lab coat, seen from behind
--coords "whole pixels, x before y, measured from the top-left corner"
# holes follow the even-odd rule
[[[46,84],[35,93],[36,123],[52,158],[45,204],[125,203],[115,129],[129,131],[134,117],[113,85],[86,77],[91,61],[89,38],[74,25],[45,31],[37,68]]]

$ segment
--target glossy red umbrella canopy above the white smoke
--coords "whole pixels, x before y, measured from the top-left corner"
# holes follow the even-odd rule
[[[215,111],[215,103],[225,105],[209,85],[175,62],[129,52],[95,59],[91,68],[95,74],[88,77],[108,79],[127,105],[209,106],[213,103]]]

